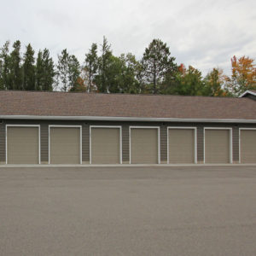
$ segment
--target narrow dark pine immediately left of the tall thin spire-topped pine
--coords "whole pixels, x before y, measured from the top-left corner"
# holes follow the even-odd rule
[[[97,45],[91,44],[89,53],[85,55],[85,66],[84,68],[88,72],[88,92],[92,90],[92,83],[95,79],[97,67],[98,67],[98,57],[97,57]]]

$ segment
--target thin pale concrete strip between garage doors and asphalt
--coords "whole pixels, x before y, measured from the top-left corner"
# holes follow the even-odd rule
[[[256,166],[255,164],[102,164],[102,165],[95,165],[95,164],[87,164],[87,165],[0,165],[0,168],[6,167],[42,167],[42,168],[49,168],[49,167],[191,167],[191,166]]]

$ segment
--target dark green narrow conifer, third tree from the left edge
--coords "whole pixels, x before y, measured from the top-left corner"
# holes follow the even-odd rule
[[[23,89],[24,90],[37,90],[36,77],[35,77],[35,51],[32,49],[31,44],[26,46],[23,63]]]

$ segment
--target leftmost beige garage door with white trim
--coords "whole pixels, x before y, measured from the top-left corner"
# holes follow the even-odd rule
[[[7,127],[7,163],[38,164],[38,127]]]

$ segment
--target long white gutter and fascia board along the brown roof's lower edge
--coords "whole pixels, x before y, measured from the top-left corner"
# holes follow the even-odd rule
[[[256,119],[177,119],[177,118],[137,118],[105,116],[47,116],[47,115],[0,115],[0,119],[39,120],[99,120],[99,121],[143,121],[143,122],[187,122],[187,123],[247,123],[256,124]]]

